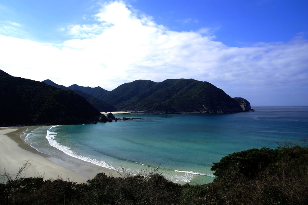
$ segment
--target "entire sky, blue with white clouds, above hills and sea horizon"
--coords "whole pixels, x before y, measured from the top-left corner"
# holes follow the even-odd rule
[[[308,105],[308,1],[2,0],[0,69],[100,86],[208,81],[252,105]]]

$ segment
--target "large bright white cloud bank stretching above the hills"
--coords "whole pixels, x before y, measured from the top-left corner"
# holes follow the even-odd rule
[[[0,69],[108,90],[137,79],[168,78],[208,81],[231,96],[307,87],[305,38],[228,47],[213,41],[213,29],[171,31],[123,2],[103,4],[94,18],[93,24],[63,28],[72,39],[57,45],[0,35]]]

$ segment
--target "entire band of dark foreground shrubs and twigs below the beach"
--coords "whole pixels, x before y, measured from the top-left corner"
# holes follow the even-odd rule
[[[214,163],[217,178],[204,185],[180,186],[154,170],[123,173],[114,178],[98,173],[86,183],[1,175],[0,204],[308,204],[308,146],[250,149]]]

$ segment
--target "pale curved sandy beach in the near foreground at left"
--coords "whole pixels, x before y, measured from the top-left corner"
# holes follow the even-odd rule
[[[31,127],[0,128],[0,174],[4,174],[4,169],[10,174],[15,174],[22,163],[29,160],[31,165],[23,172],[22,177],[44,175],[44,179],[70,178],[75,182],[82,183],[100,172],[109,176],[120,176],[111,169],[90,162],[75,164],[40,153],[20,138],[20,133],[27,128]]]

